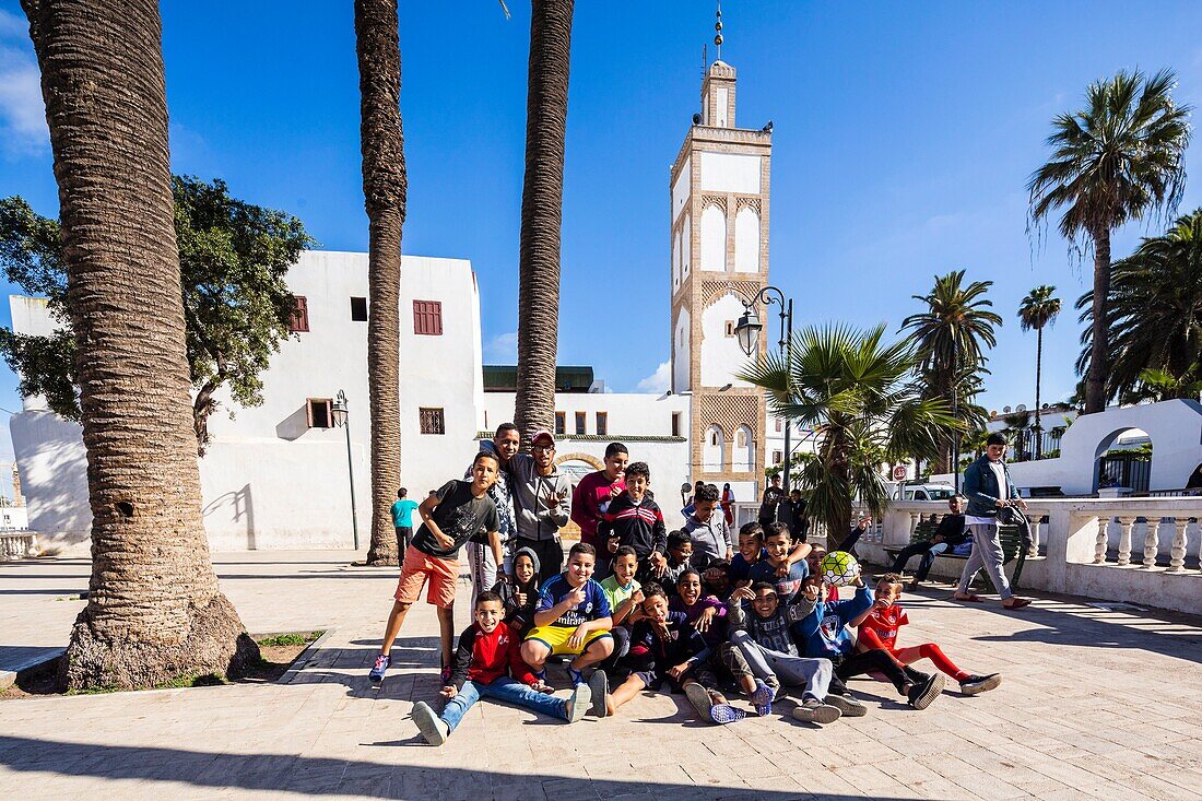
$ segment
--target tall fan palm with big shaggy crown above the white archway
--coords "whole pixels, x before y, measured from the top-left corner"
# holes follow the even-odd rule
[[[1106,408],[1111,233],[1154,210],[1172,214],[1185,189],[1191,108],[1173,102],[1174,84],[1171,70],[1150,78],[1120,71],[1091,84],[1087,108],[1053,120],[1052,159],[1027,184],[1031,221],[1064,207],[1061,236],[1094,254],[1085,414]]]

